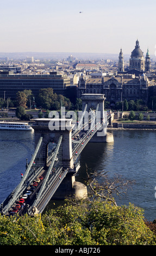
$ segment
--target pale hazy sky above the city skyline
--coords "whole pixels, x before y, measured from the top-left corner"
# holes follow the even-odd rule
[[[83,11],[83,13],[79,13]],[[155,0],[0,0],[0,52],[156,51]]]

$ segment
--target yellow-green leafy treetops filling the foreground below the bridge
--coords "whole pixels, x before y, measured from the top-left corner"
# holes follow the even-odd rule
[[[0,216],[0,245],[155,245],[155,235],[133,204],[88,199],[42,216]]]

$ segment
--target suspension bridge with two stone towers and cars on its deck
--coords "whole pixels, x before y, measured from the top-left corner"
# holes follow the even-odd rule
[[[61,184],[61,193],[65,190],[76,193],[76,190],[72,191],[76,184],[74,177],[86,144],[113,141],[113,136],[107,132],[113,116],[104,111],[104,100],[103,94],[83,94],[78,119],[70,118],[69,113],[67,117],[35,120],[34,154],[30,162],[27,161],[20,184],[1,203],[1,214],[18,212],[34,216],[42,213]]]

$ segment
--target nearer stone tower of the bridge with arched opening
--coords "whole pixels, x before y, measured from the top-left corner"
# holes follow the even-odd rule
[[[42,137],[42,157],[47,167],[48,158],[48,144],[55,142],[58,144],[59,138],[62,135],[62,162],[64,168],[73,169],[73,156],[72,156],[72,119],[52,119],[52,118],[39,118],[35,119],[34,134],[35,134],[35,147]]]

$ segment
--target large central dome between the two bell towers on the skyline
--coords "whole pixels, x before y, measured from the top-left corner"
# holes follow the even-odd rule
[[[143,52],[140,49],[138,39],[136,40],[135,48],[132,51],[129,59],[129,70],[131,69],[145,71],[145,58],[143,56]]]

